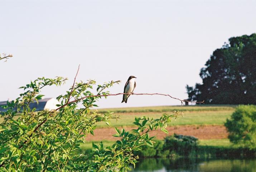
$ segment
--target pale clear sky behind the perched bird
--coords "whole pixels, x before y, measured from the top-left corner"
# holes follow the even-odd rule
[[[37,77],[68,77],[61,87],[42,90],[47,97],[66,93],[77,81],[97,84],[130,75],[135,93],[164,93],[185,99],[185,86],[202,83],[200,69],[212,52],[233,36],[256,32],[255,0],[1,0],[0,101]],[[96,86],[92,92],[96,93]],[[122,95],[97,105],[136,107],[180,105],[165,96]]]

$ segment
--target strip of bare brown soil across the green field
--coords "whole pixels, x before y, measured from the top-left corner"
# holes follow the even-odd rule
[[[132,130],[132,127],[124,127],[125,131]],[[120,129],[120,128],[119,128]],[[185,125],[185,126],[169,126],[166,128],[168,130],[168,135],[173,135],[173,133],[187,136],[194,136],[198,139],[223,139],[227,138],[228,133],[223,125]],[[87,135],[87,141],[101,141],[101,140],[111,140],[115,141],[118,137],[113,137],[112,135],[116,133],[114,128],[96,128],[93,131],[95,136]],[[156,136],[157,139],[163,140],[167,136],[162,131],[150,132],[150,136]]]

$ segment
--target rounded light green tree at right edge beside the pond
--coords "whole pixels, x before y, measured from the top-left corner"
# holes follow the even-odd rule
[[[224,124],[231,142],[243,147],[256,148],[256,106],[240,105]]]

